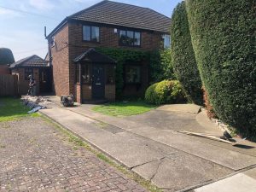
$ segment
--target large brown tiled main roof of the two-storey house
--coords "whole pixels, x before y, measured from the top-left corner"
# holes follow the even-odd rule
[[[157,32],[170,32],[171,19],[153,9],[103,0],[100,3],[68,16],[55,27],[49,36],[67,23],[67,20],[84,20],[115,26],[126,26]],[[48,36],[48,37],[49,37]]]

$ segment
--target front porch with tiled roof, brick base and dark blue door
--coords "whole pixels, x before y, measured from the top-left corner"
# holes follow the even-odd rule
[[[116,61],[91,48],[75,58],[74,63],[74,90],[77,102],[115,100]]]

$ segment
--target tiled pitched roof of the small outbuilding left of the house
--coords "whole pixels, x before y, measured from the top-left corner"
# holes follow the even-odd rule
[[[9,68],[17,67],[49,67],[48,61],[45,61],[38,55],[31,55],[20,61],[14,62],[10,65]]]

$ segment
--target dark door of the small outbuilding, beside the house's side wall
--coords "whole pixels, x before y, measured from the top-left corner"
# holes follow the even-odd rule
[[[50,68],[41,68],[39,70],[39,91],[47,93],[51,91],[52,77]]]

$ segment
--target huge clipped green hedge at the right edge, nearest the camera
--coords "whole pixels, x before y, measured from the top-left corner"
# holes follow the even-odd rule
[[[256,138],[255,0],[187,0],[195,58],[218,117]]]

